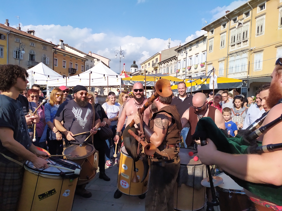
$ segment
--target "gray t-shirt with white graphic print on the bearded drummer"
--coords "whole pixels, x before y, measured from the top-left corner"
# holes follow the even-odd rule
[[[86,107],[79,107],[74,100],[63,102],[54,117],[58,121],[63,121],[65,129],[71,131],[73,134],[83,133],[92,129],[93,111],[90,103]],[[99,114],[95,110],[95,121],[100,119]],[[75,136],[78,142],[82,143],[90,135],[90,133]],[[87,139],[91,141],[91,137]]]

